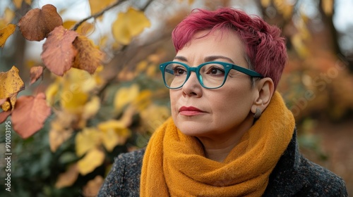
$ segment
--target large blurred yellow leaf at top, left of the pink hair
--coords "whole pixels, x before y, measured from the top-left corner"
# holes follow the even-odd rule
[[[112,32],[114,39],[120,44],[129,44],[133,37],[143,32],[145,27],[150,27],[150,20],[142,11],[128,8],[126,13],[119,13],[114,21]]]

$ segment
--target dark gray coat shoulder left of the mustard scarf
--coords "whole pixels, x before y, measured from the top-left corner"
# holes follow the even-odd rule
[[[139,196],[144,154],[145,148],[118,155],[98,196]]]

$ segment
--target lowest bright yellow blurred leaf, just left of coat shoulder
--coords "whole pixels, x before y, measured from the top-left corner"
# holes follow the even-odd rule
[[[97,148],[90,150],[82,159],[78,161],[78,172],[83,176],[95,170],[104,162],[104,153]]]

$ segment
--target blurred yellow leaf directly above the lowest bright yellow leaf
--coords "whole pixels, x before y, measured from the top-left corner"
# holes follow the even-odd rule
[[[100,132],[95,128],[85,128],[76,135],[76,155],[79,157],[100,145]]]

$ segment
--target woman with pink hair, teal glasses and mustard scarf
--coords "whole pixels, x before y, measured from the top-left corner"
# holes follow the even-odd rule
[[[147,148],[116,158],[99,196],[347,196],[298,150],[275,91],[287,63],[280,30],[233,8],[196,10],[162,63],[172,117]]]

